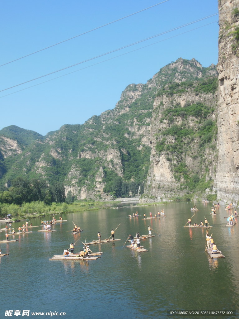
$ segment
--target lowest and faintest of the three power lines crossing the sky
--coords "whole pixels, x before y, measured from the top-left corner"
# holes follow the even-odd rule
[[[32,87],[34,87],[34,86],[41,85],[41,84],[44,84],[44,83],[47,83],[47,82],[56,80],[56,79],[58,79],[58,78],[65,77],[66,75],[69,75],[69,74],[72,74],[72,73],[75,73],[75,72],[79,72],[79,71],[84,70],[84,69],[87,69],[87,68],[91,68],[92,66],[95,66],[95,65],[97,65],[97,64],[104,63],[104,62],[110,61],[110,60],[112,60],[112,59],[116,59],[116,58],[118,58],[118,57],[120,57],[120,56],[124,56],[124,55],[126,55],[126,54],[129,54],[129,53],[132,53],[132,52],[141,50],[141,49],[143,49],[143,48],[147,48],[147,47],[149,47],[149,46],[151,46],[151,45],[155,45],[155,44],[157,44],[157,43],[160,43],[160,42],[163,42],[163,41],[166,41],[166,40],[175,38],[175,37],[177,37],[177,36],[179,36],[179,35],[182,35],[182,34],[185,34],[185,33],[188,33],[188,32],[194,31],[194,30],[197,30],[197,29],[199,29],[199,28],[202,28],[202,27],[204,27],[204,26],[208,26],[208,25],[210,25],[210,24],[212,24],[212,23],[216,23],[216,22],[218,22],[218,21],[213,21],[213,22],[207,23],[207,24],[205,24],[205,25],[203,25],[203,26],[199,26],[199,27],[197,27],[197,28],[194,28],[194,29],[191,29],[191,30],[188,30],[188,31],[185,31],[185,32],[176,34],[176,35],[173,35],[173,36],[171,36],[171,37],[169,37],[169,38],[167,38],[167,39],[163,39],[163,40],[160,40],[160,41],[157,41],[157,42],[154,42],[154,43],[145,45],[145,46],[143,46],[143,47],[141,47],[141,48],[137,48],[137,49],[135,49],[135,50],[132,50],[132,51],[129,51],[129,52],[126,52],[126,53],[122,53],[122,54],[120,54],[120,55],[118,55],[118,56],[113,56],[112,58],[109,58],[109,59],[107,59],[107,60],[100,61],[100,62],[98,62],[98,63],[94,63],[94,64],[91,64],[91,65],[88,65],[88,66],[86,66],[86,67],[84,67],[84,68],[81,68],[81,69],[78,69],[78,70],[75,70],[75,71],[72,71],[72,72],[69,72],[69,73],[60,75],[59,77],[52,78],[52,79],[50,79],[50,80],[47,80],[47,81],[44,81],[44,82],[40,82],[40,83],[35,84],[35,85],[31,85],[31,86],[25,87],[24,89],[21,89],[21,90],[18,90],[18,91],[15,91],[15,92],[12,92],[12,93],[9,93],[9,94],[0,96],[0,98],[3,98],[3,97],[5,97],[5,96],[11,95],[11,94],[15,94],[15,93],[18,93],[18,92],[27,90],[27,89],[30,89],[30,88],[32,88]]]

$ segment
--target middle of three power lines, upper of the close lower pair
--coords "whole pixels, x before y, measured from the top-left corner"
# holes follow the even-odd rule
[[[54,74],[54,73],[57,73],[57,72],[60,72],[60,71],[63,71],[63,70],[72,68],[72,67],[74,67],[74,66],[76,66],[76,65],[79,65],[79,64],[82,64],[82,63],[85,63],[85,62],[89,62],[89,61],[94,60],[94,59],[97,59],[97,58],[99,58],[99,57],[101,57],[101,56],[105,56],[105,55],[107,55],[107,54],[110,54],[110,53],[113,53],[113,52],[116,52],[116,51],[119,51],[119,50],[122,50],[122,49],[125,49],[125,48],[128,48],[128,47],[131,47],[131,46],[133,46],[133,45],[135,45],[135,44],[138,44],[138,43],[141,43],[141,42],[144,42],[144,41],[147,41],[147,40],[156,38],[156,37],[158,37],[158,36],[160,36],[160,35],[163,35],[163,34],[166,34],[166,33],[169,33],[169,32],[175,31],[175,30],[178,30],[178,29],[183,28],[183,27],[185,27],[185,26],[189,26],[189,25],[191,25],[191,24],[193,24],[193,23],[196,23],[196,22],[199,22],[199,21],[202,21],[202,20],[205,20],[205,19],[214,17],[214,16],[217,15],[217,14],[218,14],[218,13],[214,13],[214,14],[212,14],[212,15],[210,15],[210,16],[207,16],[207,17],[204,17],[204,18],[201,18],[201,19],[198,19],[198,20],[195,20],[195,21],[186,23],[186,24],[184,24],[183,26],[178,26],[178,27],[176,27],[176,28],[173,28],[173,29],[168,30],[168,31],[164,31],[164,32],[159,33],[159,34],[156,34],[156,35],[153,35],[153,36],[148,37],[148,38],[146,38],[146,39],[143,39],[143,40],[136,41],[136,42],[134,42],[134,43],[128,44],[128,45],[126,45],[126,46],[124,46],[124,47],[121,47],[121,48],[118,48],[118,49],[115,49],[115,50],[112,50],[112,51],[109,51],[109,52],[100,54],[100,55],[98,55],[98,56],[94,56],[94,57],[92,57],[92,58],[90,58],[90,59],[87,59],[87,60],[84,60],[84,61],[81,61],[81,62],[72,64],[72,65],[69,65],[69,66],[67,66],[67,67],[65,67],[65,68],[62,68],[62,69],[59,69],[59,70],[56,70],[56,71],[47,73],[47,74],[45,74],[45,75],[41,75],[40,77],[37,77],[37,78],[31,79],[31,80],[28,80],[28,81],[19,83],[19,84],[17,84],[17,85],[13,85],[13,86],[8,87],[8,88],[6,88],[6,89],[0,90],[0,92],[3,92],[3,91],[6,91],[6,90],[9,90],[9,89],[12,89],[12,88],[17,87],[17,86],[19,86],[19,85],[23,85],[23,84],[26,84],[26,83],[29,83],[29,82],[38,80],[38,79],[40,79],[40,78],[44,78],[44,77],[46,77],[46,76],[48,76],[48,75],[51,75],[51,74]]]

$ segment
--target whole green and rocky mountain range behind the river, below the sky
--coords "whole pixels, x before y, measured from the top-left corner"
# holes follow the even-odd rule
[[[36,177],[63,182],[78,199],[215,193],[216,89],[214,65],[179,58],[146,84],[128,85],[114,109],[82,125],[44,138],[5,128],[1,185]]]

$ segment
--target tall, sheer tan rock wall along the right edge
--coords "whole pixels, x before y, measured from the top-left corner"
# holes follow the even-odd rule
[[[219,1],[218,199],[239,201],[239,1]]]

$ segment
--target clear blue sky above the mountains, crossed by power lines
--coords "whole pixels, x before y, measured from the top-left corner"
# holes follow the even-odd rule
[[[2,0],[0,64],[162,1]],[[1,66],[0,129],[17,125],[46,135],[64,124],[82,124],[92,115],[114,108],[127,85],[146,83],[179,57],[195,58],[204,67],[217,64],[218,15],[81,63],[215,13],[216,0],[168,0]],[[19,85],[77,63],[81,64]],[[62,76],[70,72],[74,73]]]

